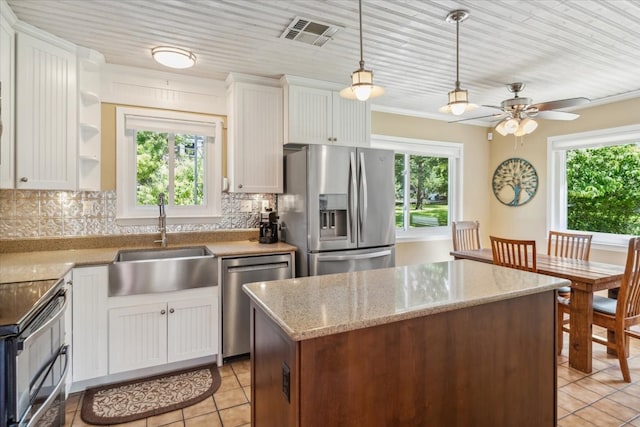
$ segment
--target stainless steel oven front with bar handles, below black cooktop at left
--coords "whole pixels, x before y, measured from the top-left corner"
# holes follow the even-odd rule
[[[69,368],[64,344],[64,292],[56,296],[19,337],[16,352],[18,426],[64,425],[65,379]]]

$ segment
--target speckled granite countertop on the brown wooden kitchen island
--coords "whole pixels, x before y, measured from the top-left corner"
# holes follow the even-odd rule
[[[294,341],[540,293],[569,281],[469,260],[243,286]]]

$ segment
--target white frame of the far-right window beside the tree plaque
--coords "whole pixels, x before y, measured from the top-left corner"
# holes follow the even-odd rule
[[[566,152],[580,148],[625,145],[640,141],[640,124],[595,131],[557,135],[547,138],[547,232],[576,231],[593,234],[592,246],[605,250],[625,251],[629,235],[599,233],[567,228]]]

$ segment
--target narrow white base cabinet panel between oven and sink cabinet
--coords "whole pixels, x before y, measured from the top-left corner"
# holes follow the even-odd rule
[[[73,269],[73,382],[107,375],[107,266]]]

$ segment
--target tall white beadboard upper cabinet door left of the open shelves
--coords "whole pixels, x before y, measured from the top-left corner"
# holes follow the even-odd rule
[[[16,188],[76,189],[75,52],[17,33]]]

